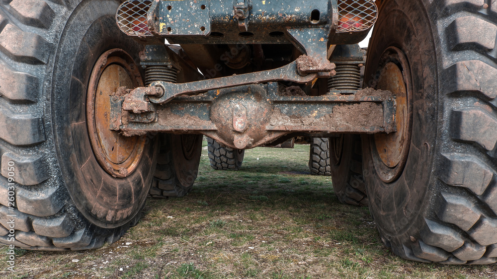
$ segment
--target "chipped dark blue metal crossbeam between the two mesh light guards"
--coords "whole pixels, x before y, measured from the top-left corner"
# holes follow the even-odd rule
[[[174,10],[165,9],[165,6],[190,5],[197,9],[202,1],[160,1],[149,12],[151,29],[159,36],[165,36],[169,42],[191,44],[196,41],[200,44],[224,44],[249,41],[251,43],[288,43],[287,36],[270,36],[271,32],[286,33],[288,28],[306,28],[330,26],[332,18],[331,6],[333,1],[323,0],[294,0],[294,1],[249,1],[249,0],[219,0],[208,1],[205,10],[209,12],[209,22],[198,10],[188,18],[189,30],[186,33],[197,36],[184,36],[174,33],[170,21],[182,21],[183,15],[171,14]],[[336,4],[335,4],[336,5]],[[296,9],[295,7],[299,7]],[[319,11],[318,20],[312,21],[313,10]],[[198,20],[196,16],[199,16]],[[198,36],[198,27],[205,27],[217,36]],[[162,27],[162,28],[161,28]],[[167,29],[170,27],[170,30]],[[329,28],[328,28],[329,29]],[[274,33],[273,33],[274,34]],[[209,33],[205,33],[209,35]]]

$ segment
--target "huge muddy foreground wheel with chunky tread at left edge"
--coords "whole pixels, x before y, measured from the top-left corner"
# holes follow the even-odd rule
[[[1,243],[98,248],[140,217],[157,141],[110,131],[105,111],[118,86],[143,84],[119,4],[0,1]]]

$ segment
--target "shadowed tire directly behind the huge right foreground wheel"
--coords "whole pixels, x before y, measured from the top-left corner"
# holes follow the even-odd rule
[[[360,136],[346,134],[330,138],[330,167],[333,191],[338,200],[343,204],[368,206]]]

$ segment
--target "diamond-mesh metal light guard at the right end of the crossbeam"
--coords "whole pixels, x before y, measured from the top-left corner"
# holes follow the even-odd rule
[[[357,32],[369,29],[376,22],[378,8],[374,0],[338,0],[336,32]]]

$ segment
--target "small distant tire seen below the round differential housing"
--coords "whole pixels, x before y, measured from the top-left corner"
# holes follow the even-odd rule
[[[211,168],[215,170],[239,170],[244,162],[245,150],[221,146],[211,138],[207,138],[207,151]]]

